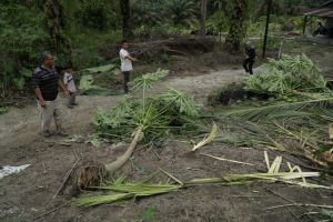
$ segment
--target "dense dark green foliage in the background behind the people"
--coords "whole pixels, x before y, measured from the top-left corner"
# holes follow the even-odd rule
[[[39,64],[42,51],[56,53],[56,63],[68,62],[69,57],[75,68],[82,69],[108,62],[102,49],[119,43],[122,29],[131,29],[134,38],[161,38],[198,33],[200,29],[201,1],[195,0],[130,0],[130,14],[125,18],[118,0],[3,0],[0,2],[0,90],[2,101],[9,95],[9,89],[22,91],[30,80],[32,69]],[[253,34],[262,33],[264,21],[263,1],[254,0],[242,8],[243,23],[235,26],[231,14],[239,1],[211,0],[206,6],[206,33],[220,34],[236,27],[235,48],[246,36],[246,29]],[[323,1],[280,0],[274,1],[275,16],[292,14],[304,8],[317,7]],[[259,18],[258,23],[249,23]],[[125,18],[125,20],[124,20]],[[273,30],[300,28],[301,19],[273,21]],[[285,17],[286,20],[289,19]],[[122,26],[123,21],[130,27]],[[248,22],[248,23],[246,23]],[[282,27],[278,24],[289,24]],[[250,26],[249,26],[250,24]],[[291,28],[290,28],[291,27]],[[229,37],[232,37],[229,34]],[[231,38],[228,38],[230,40]],[[239,39],[239,40],[238,40]]]

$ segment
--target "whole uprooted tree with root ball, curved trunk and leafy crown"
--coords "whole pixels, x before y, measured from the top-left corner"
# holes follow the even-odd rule
[[[110,110],[98,110],[92,122],[98,137],[112,141],[133,139],[124,154],[115,161],[82,165],[77,171],[79,188],[98,185],[107,175],[113,175],[125,164],[140,141],[157,147],[178,134],[198,133],[195,124],[200,110],[193,98],[174,89],[147,98],[147,90],[167,74],[168,71],[158,70],[137,78],[131,82],[131,89],[141,90],[141,98],[125,97]]]

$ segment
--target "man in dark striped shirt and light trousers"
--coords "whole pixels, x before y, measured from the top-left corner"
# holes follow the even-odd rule
[[[58,88],[61,88],[67,97],[69,91],[60,80],[60,75],[53,65],[53,57],[50,53],[41,56],[42,64],[32,73],[32,84],[38,100],[38,108],[41,117],[41,133],[43,137],[51,137],[50,124],[54,118],[57,134],[65,137],[62,129],[61,111],[58,102]]]

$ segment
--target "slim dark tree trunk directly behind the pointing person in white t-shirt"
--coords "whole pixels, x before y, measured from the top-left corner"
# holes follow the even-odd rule
[[[131,8],[130,0],[119,0],[120,11],[122,16],[122,36],[124,39],[131,39],[133,37],[131,27]]]

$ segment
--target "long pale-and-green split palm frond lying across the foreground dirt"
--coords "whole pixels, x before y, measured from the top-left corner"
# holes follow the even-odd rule
[[[102,195],[84,196],[74,200],[72,203],[78,206],[93,206],[105,203],[114,203],[129,199],[152,196],[162,193],[170,193],[179,191],[181,189],[198,186],[198,185],[248,185],[250,183],[261,182],[283,182],[293,185],[300,185],[304,188],[313,189],[330,189],[332,186],[323,186],[319,184],[312,184],[306,182],[306,178],[320,176],[319,172],[302,172],[300,167],[292,167],[291,163],[286,163],[289,172],[280,172],[282,164],[282,157],[276,157],[272,164],[270,163],[268,153],[265,152],[265,161],[268,165],[266,173],[252,173],[252,174],[231,174],[221,178],[205,178],[205,179],[193,179],[188,182],[174,178],[170,173],[163,171],[169,175],[174,183],[168,184],[149,184],[149,183],[123,183],[122,180],[115,180],[113,182],[105,183],[104,185],[94,188],[99,191],[103,191]],[[301,180],[301,181],[300,181]]]

